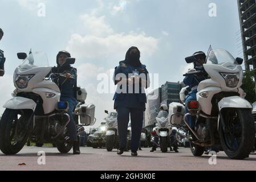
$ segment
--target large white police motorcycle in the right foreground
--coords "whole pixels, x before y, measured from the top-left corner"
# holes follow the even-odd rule
[[[194,56],[185,60],[187,63],[196,61]],[[231,159],[245,159],[253,149],[252,106],[244,99],[245,93],[240,88],[242,62],[224,49],[215,49],[206,57],[203,71],[184,75],[208,75],[208,79],[198,85],[197,100],[188,102],[189,113],[184,115],[194,156],[201,156],[205,147],[218,144]],[[188,124],[189,115],[196,117],[194,128]]]

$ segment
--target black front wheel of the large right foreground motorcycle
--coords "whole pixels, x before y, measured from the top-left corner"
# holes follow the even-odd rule
[[[255,125],[250,109],[229,108],[223,110],[225,131],[220,121],[220,141],[231,159],[245,159],[253,150]]]

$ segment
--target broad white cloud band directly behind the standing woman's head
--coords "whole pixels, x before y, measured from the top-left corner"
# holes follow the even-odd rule
[[[152,56],[157,49],[159,40],[140,34],[113,34],[105,38],[93,35],[82,36],[74,34],[68,42],[67,49],[78,58],[102,59],[112,61],[124,59],[125,53],[131,46],[137,46],[142,55]]]

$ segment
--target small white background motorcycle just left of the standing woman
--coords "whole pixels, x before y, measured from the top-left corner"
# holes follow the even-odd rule
[[[117,148],[118,142],[118,129],[117,129],[117,113],[111,112],[109,113],[105,110],[105,113],[108,116],[105,118],[107,123],[107,132],[106,132],[106,148],[107,151],[112,151],[113,148]]]

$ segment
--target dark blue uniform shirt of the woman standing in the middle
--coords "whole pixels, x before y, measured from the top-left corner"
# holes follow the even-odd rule
[[[141,67],[133,67],[131,65],[128,65],[127,63],[124,63],[124,61],[121,61],[120,65],[115,68],[113,81],[115,82],[115,84],[117,84],[115,78],[119,73],[123,73],[126,76],[126,78],[129,78],[129,73],[132,74],[135,72],[137,72],[139,75],[141,73],[144,73],[145,79],[147,80],[147,82],[149,82],[148,71],[145,65],[141,65]],[[117,109],[117,107],[131,107],[145,110],[145,103],[147,102],[147,97],[145,94],[144,87],[140,85],[139,93],[135,93],[134,88],[132,93],[128,93],[129,86],[126,86],[127,93],[115,93],[115,96],[113,97],[113,100],[115,100],[114,109]],[[117,86],[117,90],[118,89],[119,88]]]

